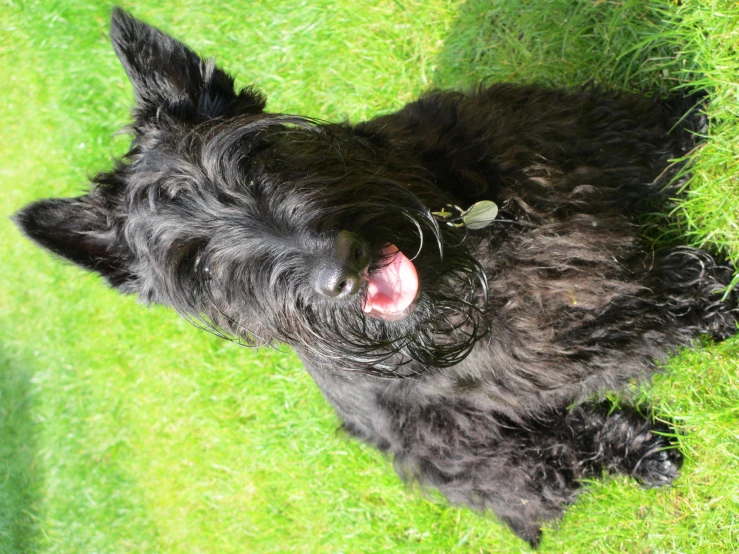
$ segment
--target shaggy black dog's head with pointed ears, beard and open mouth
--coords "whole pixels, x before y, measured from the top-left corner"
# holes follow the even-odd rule
[[[484,332],[485,279],[412,152],[349,125],[264,111],[253,87],[113,14],[136,106],[129,153],[78,198],[15,220],[148,302],[315,363],[410,374]]]

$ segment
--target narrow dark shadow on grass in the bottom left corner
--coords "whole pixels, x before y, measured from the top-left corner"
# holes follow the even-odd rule
[[[0,553],[3,554],[36,550],[40,483],[35,465],[37,445],[31,419],[30,379],[28,366],[0,357]]]

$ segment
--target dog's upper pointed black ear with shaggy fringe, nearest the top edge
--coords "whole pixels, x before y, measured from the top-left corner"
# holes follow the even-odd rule
[[[113,9],[110,38],[133,83],[139,123],[195,120],[260,113],[264,96],[252,87],[234,92],[234,81],[212,60],[202,60],[180,41],[159,29]]]

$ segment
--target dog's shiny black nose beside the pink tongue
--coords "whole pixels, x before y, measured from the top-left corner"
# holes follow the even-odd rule
[[[333,246],[319,263],[314,288],[329,298],[344,298],[359,292],[369,265],[369,249],[349,231],[339,231]]]

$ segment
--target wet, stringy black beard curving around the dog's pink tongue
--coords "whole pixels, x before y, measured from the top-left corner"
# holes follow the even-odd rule
[[[301,334],[288,342],[318,366],[409,377],[458,363],[487,331],[484,277],[476,265],[450,269],[424,286],[412,313],[397,321],[368,316],[361,302],[305,306]]]

